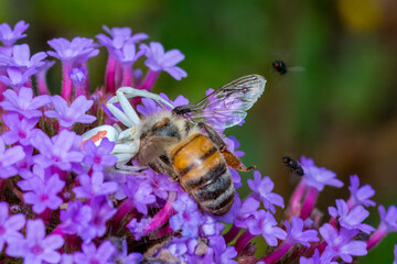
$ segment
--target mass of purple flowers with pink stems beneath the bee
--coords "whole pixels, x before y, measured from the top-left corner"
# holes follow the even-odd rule
[[[176,66],[184,55],[165,52],[158,42],[137,48],[147,34],[104,26],[107,35],[97,35],[99,45],[85,37],[60,37],[49,41],[54,51],[31,56],[28,44],[15,45],[28,28],[23,21],[13,30],[0,24],[0,191],[8,194],[0,201],[4,262],[352,263],[397,231],[395,206],[378,207],[377,229],[364,222],[366,208],[375,206],[371,200],[375,191],[369,185],[360,186],[356,175],[351,176],[350,198],[331,202],[335,205],[329,207],[330,217],[322,220],[315,208],[320,191],[343,183],[311,158],[301,158],[304,175],[288,204],[275,193],[270,177],[255,172],[247,180],[250,194],[242,199],[236,191],[230,210],[217,217],[201,210],[168,175],[151,168],[137,175],[115,169],[115,143],[83,142],[81,134],[117,122],[100,109],[116,88],[133,85],[151,90],[162,70],[176,80],[186,77]],[[90,94],[87,61],[98,55],[98,46],[109,55],[105,88]],[[50,96],[46,87],[45,72],[54,64],[44,61],[47,55],[62,62],[62,96]],[[147,57],[144,78],[133,68],[141,56]],[[183,96],[175,100],[160,96],[174,107],[189,103]],[[136,109],[142,116],[164,110],[147,98]],[[228,151],[244,155],[234,136],[224,141]],[[129,165],[139,164],[132,160]],[[230,174],[235,189],[246,185],[237,170],[230,168]],[[280,209],[283,221],[275,217]],[[254,239],[268,246],[256,248]]]

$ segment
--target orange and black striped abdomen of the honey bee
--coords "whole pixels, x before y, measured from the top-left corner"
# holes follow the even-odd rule
[[[234,201],[230,172],[216,145],[204,134],[195,133],[171,151],[181,186],[204,210],[224,215]]]

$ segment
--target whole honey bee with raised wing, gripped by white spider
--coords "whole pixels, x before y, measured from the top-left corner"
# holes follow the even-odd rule
[[[213,215],[226,213],[234,202],[227,166],[246,168],[227,150],[217,130],[238,124],[265,89],[266,79],[249,75],[215,90],[196,105],[155,113],[140,123],[136,160],[178,180],[200,207]]]

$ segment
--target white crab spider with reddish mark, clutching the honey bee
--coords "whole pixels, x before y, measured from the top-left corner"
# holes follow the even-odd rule
[[[138,138],[138,127],[140,124],[140,119],[137,112],[133,110],[132,106],[128,101],[128,98],[133,97],[146,97],[154,100],[161,106],[161,103],[173,109],[174,107],[161,98],[159,95],[149,92],[147,90],[138,90],[132,87],[121,87],[116,91],[116,96],[110,98],[106,105],[111,114],[124,123],[128,129],[121,130],[117,124],[111,125],[100,125],[95,129],[92,129],[83,134],[83,142],[87,140],[94,141],[95,145],[99,145],[104,138],[107,138],[109,141],[115,142],[115,148],[110,153],[117,157],[116,168],[120,169],[119,172],[125,170],[141,170],[146,167],[140,166],[129,166],[127,163],[139,151],[139,138]],[[114,103],[119,102],[121,109],[118,109]]]

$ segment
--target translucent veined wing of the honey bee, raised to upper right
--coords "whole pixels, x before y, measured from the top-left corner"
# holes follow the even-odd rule
[[[196,105],[186,106],[186,114],[194,122],[205,121],[216,129],[240,123],[247,110],[265,90],[266,79],[260,75],[247,75],[213,91]]]

